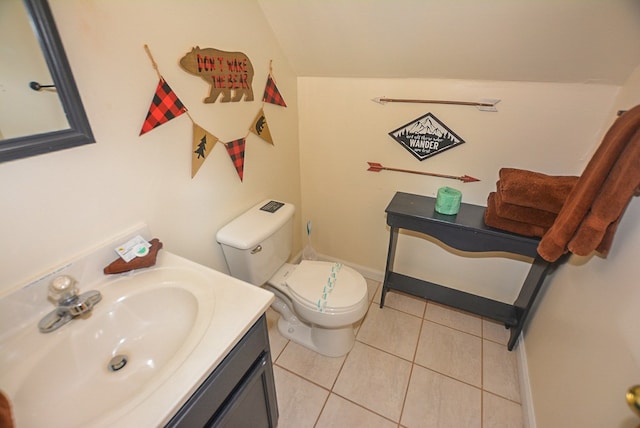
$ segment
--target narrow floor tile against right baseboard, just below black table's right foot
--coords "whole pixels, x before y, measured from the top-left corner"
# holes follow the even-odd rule
[[[483,389],[520,403],[516,353],[505,345],[484,340],[482,345]]]

